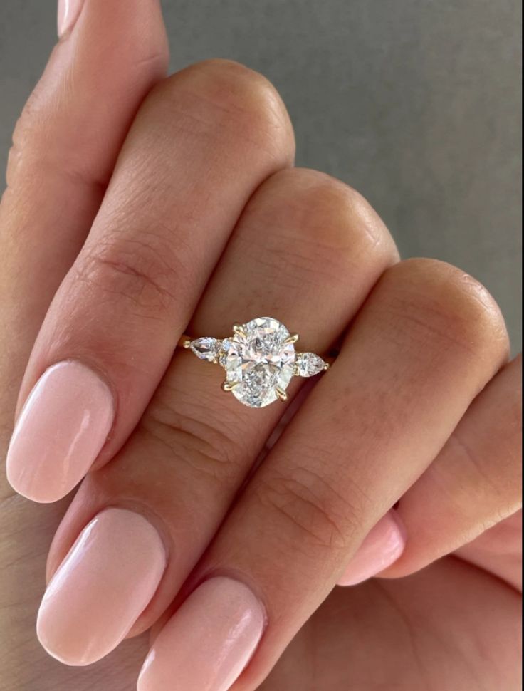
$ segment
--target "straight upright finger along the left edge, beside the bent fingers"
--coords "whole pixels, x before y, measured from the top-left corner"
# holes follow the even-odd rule
[[[130,122],[167,58],[155,0],[86,0],[16,125],[0,205],[4,452],[38,328],[88,234]]]

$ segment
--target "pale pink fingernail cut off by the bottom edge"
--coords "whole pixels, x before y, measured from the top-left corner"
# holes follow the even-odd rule
[[[226,691],[256,650],[265,620],[260,601],[240,581],[205,581],[154,641],[138,691]]]

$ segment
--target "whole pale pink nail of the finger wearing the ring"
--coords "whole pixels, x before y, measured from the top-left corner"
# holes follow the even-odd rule
[[[125,638],[150,602],[166,555],[140,514],[107,509],[80,533],[48,585],[36,633],[66,665],[90,665]]]

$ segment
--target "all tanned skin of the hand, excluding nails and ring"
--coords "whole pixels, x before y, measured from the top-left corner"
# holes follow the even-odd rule
[[[88,362],[118,402],[72,502],[38,506],[0,483],[7,687],[133,687],[145,632],[226,572],[268,613],[235,691],[516,691],[520,359],[508,364],[493,298],[447,264],[399,261],[360,194],[293,169],[263,77],[208,61],[164,78],[158,6],[132,1],[88,0],[61,38],[0,207],[3,449],[60,360]],[[243,408],[214,368],[172,353],[187,323],[221,334],[264,313],[296,324],[303,350],[340,355],[237,498],[285,409]],[[333,590],[397,502],[402,557]],[[49,578],[107,506],[140,508],[177,559],[130,640],[63,667],[33,633],[48,545],[54,534]]]

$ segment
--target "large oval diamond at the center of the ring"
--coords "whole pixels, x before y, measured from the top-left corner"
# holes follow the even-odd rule
[[[290,335],[288,329],[271,317],[248,321],[242,325],[242,331],[245,336],[235,333],[224,348],[226,380],[239,382],[233,394],[241,403],[261,408],[278,398],[277,388],[288,388],[293,377],[295,345],[285,343]]]

